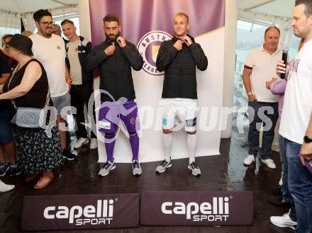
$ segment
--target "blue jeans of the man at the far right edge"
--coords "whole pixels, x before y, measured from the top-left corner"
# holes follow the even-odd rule
[[[281,136],[282,137],[282,136]],[[283,182],[288,186],[291,203],[289,217],[298,222],[296,233],[312,232],[312,176],[302,166],[299,153],[301,144],[282,137],[285,156],[283,160]],[[284,185],[284,183],[283,183]]]

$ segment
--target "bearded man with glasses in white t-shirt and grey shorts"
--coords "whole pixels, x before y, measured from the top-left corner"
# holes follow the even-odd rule
[[[52,34],[52,15],[48,10],[40,9],[33,14],[38,33],[30,35],[33,41],[33,57],[38,59],[47,72],[50,96],[53,105],[57,109],[57,127],[60,132],[63,157],[68,160],[76,158],[75,154],[67,148],[67,132],[60,130],[60,123],[65,127],[67,111],[70,107],[69,88],[71,79],[65,64],[65,43],[64,40]],[[62,112],[62,113],[61,113]]]

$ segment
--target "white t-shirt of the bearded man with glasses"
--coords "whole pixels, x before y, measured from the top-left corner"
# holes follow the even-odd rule
[[[43,64],[47,72],[51,97],[64,96],[68,92],[64,40],[58,35],[52,34],[50,38],[45,38],[38,33],[29,38],[33,41],[33,57]]]

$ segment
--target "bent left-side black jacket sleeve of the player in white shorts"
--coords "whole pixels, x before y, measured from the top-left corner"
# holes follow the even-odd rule
[[[169,42],[162,42],[156,59],[156,67],[159,72],[163,72],[167,69],[168,65],[177,55],[177,52],[178,50],[173,47],[173,45],[169,44]]]

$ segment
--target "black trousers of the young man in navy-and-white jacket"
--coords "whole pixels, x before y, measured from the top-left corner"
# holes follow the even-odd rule
[[[76,123],[77,123],[76,136],[78,138],[88,137],[86,127],[85,125],[82,125],[82,123],[85,123],[84,105],[86,105],[88,108],[89,98],[92,93],[93,93],[92,85],[88,85],[88,86],[72,85],[72,88],[70,89],[70,96],[72,98],[72,106],[77,109],[77,114],[74,114],[74,117],[76,118]],[[88,112],[88,115],[89,117],[93,118],[94,123],[96,123],[94,105],[93,105],[92,113]],[[96,135],[91,130],[91,138],[95,138],[95,137]]]

